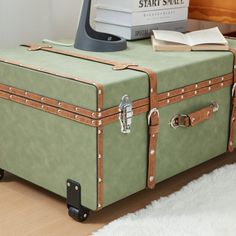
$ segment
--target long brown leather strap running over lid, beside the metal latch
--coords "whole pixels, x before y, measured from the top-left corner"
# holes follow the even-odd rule
[[[149,126],[151,130],[158,130],[159,125],[159,112],[153,112],[154,109],[157,110],[157,75],[154,71],[138,66],[133,63],[119,63],[116,61],[111,60],[104,60],[97,57],[92,57],[88,55],[83,55],[77,52],[68,52],[63,51],[57,48],[53,48],[50,45],[32,45],[32,44],[24,44],[22,46],[28,47],[29,51],[35,51],[35,50],[42,50],[52,53],[57,53],[65,56],[80,58],[84,60],[94,61],[97,63],[107,64],[113,66],[113,70],[135,70],[144,72],[149,77],[149,84],[150,84],[150,91],[149,91]],[[147,170],[147,187],[148,188],[154,188],[155,187],[155,173],[156,173],[156,146],[157,146],[157,133],[149,132],[149,149],[148,149],[148,170]]]

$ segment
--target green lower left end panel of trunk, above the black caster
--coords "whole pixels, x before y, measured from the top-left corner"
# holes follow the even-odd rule
[[[97,206],[96,129],[0,100],[0,167],[66,197],[80,182],[82,204]]]

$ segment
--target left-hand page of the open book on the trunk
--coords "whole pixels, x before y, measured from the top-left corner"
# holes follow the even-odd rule
[[[153,30],[155,39],[173,43],[188,44],[185,34],[169,30]]]

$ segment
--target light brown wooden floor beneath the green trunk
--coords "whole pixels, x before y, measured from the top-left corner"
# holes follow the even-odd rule
[[[74,236],[90,235],[110,221],[143,208],[151,201],[179,190],[204,173],[236,163],[236,152],[225,154],[158,184],[155,190],[144,190],[92,212],[86,223],[67,216],[65,200],[13,175],[0,183],[1,236]]]

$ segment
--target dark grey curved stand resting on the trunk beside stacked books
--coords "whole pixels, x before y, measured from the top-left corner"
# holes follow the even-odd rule
[[[90,26],[90,9],[91,0],[84,0],[74,47],[94,52],[111,52],[126,49],[127,42],[125,39],[92,29]]]

